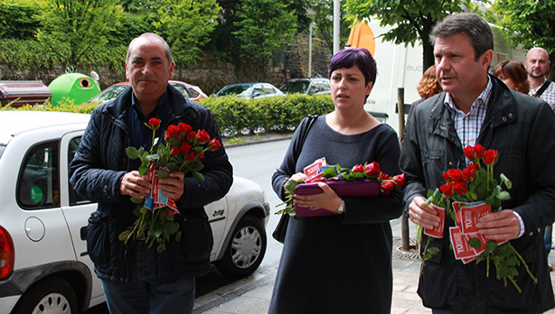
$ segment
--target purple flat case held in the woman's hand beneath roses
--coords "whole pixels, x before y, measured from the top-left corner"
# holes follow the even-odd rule
[[[357,180],[357,181],[325,181],[340,197],[377,197],[380,195],[379,180]],[[318,183],[302,183],[296,186],[295,194],[320,194],[324,191],[318,187]],[[337,215],[333,211],[325,209],[310,209],[295,206],[296,216],[317,217]]]

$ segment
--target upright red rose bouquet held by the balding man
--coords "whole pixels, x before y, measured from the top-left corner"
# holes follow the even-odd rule
[[[139,174],[144,179],[153,183],[153,189],[144,199],[131,198],[137,204],[134,214],[137,217],[135,224],[119,235],[119,240],[129,241],[137,237],[144,237],[148,247],[158,244],[156,250],[165,250],[165,243],[175,235],[175,240],[181,238],[179,224],[174,222],[174,214],[179,214],[174,204],[174,199],[165,197],[158,189],[158,179],[169,178],[169,173],[182,171],[192,172],[193,178],[203,181],[204,177],[199,172],[204,167],[202,158],[204,152],[215,151],[221,147],[216,139],[204,130],[197,132],[191,125],[180,123],[170,125],[165,131],[165,143],[158,143],[155,138],[156,130],[160,127],[160,120],[152,118],[146,124],[152,130],[152,148],[147,152],[143,147],[127,147],[127,156],[131,159],[140,159]]]

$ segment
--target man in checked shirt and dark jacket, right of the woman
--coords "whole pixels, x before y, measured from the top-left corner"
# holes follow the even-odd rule
[[[403,199],[410,219],[427,229],[440,226],[436,210],[423,205],[428,189],[443,185],[448,170],[466,168],[466,146],[494,149],[499,152],[494,177],[499,180],[503,173],[513,180],[511,199],[503,201],[503,210],[481,217],[476,227],[487,240],[510,240],[537,282],[522,263],[517,265],[519,293],[496,278],[494,264],[456,260],[449,241],[455,221],[446,215],[443,237],[428,242],[424,235],[423,242],[437,254],[422,265],[419,296],[435,314],[544,312],[555,307],[542,239],[543,226],[555,220],[555,142],[541,139],[555,134],[555,114],[541,99],[488,75],[494,37],[478,15],[447,16],[431,38],[444,91],[416,107],[403,143],[400,170],[406,176]]]

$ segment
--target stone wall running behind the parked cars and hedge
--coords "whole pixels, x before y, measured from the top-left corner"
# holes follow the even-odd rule
[[[268,73],[259,73],[256,69],[236,69],[230,62],[201,62],[197,69],[174,69],[174,79],[197,85],[210,95],[217,92],[228,84],[266,81],[280,87],[289,78],[306,78],[308,72],[308,35],[296,34],[296,44],[289,45],[285,51],[279,51],[272,64],[268,67]],[[327,77],[327,66],[332,53],[319,48],[318,42],[313,40],[313,76],[318,74]],[[99,74],[100,88],[127,80],[125,65],[120,69],[74,69],[75,72],[90,75],[90,71]],[[54,78],[66,73],[63,67],[52,67],[51,69],[13,69],[9,64],[0,63],[0,80],[42,80],[47,86]]]

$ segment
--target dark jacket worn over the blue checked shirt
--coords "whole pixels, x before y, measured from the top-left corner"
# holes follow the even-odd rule
[[[516,282],[495,278],[491,264],[489,278],[486,263],[456,261],[449,242],[449,226],[454,221],[446,215],[443,238],[432,239],[429,247],[439,254],[424,264],[419,281],[419,296],[424,306],[452,309],[462,314],[541,313],[555,306],[550,272],[543,246],[543,227],[555,220],[555,115],[541,99],[532,98],[507,88],[501,80],[490,76],[494,89],[476,143],[499,152],[494,176],[503,173],[513,181],[511,199],[503,208],[519,213],[525,233],[511,241],[538,279],[533,283],[521,264]],[[409,129],[400,155],[400,170],[407,185],[407,206],[417,196],[426,197],[428,189],[436,189],[449,169],[466,167],[463,146],[447,107],[446,93],[428,98],[410,116]],[[428,237],[424,235],[423,247]]]

